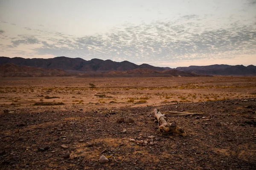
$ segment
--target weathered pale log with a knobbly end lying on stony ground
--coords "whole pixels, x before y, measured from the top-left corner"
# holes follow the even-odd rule
[[[172,134],[174,136],[186,136],[186,132],[183,128],[178,127],[176,122],[169,123],[168,118],[166,118],[160,111],[154,109],[154,116],[158,120],[158,130],[163,134]]]

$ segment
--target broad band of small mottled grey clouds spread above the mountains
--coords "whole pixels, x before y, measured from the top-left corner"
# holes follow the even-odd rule
[[[245,25],[235,21],[209,28],[206,27],[208,23],[199,23],[198,19],[201,19],[198,15],[184,15],[172,21],[126,23],[105,34],[82,37],[36,30],[38,35],[10,39],[12,44],[8,48],[25,44],[30,45],[29,50],[35,55],[123,58],[140,62],[232,59],[238,55],[256,54],[255,23]]]

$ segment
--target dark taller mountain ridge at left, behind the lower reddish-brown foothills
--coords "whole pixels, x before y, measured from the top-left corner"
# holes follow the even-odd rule
[[[132,62],[122,61],[115,62],[110,59],[91,59],[84,60],[81,58],[55,57],[50,59],[24,59],[21,57],[0,57],[0,64],[14,63],[16,65],[27,65],[41,68],[60,68],[65,71],[128,71],[136,68],[149,68],[157,71],[164,71],[171,68],[154,67],[148,64],[136,65]]]

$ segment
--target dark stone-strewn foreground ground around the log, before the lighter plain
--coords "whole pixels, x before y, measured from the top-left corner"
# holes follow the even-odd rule
[[[169,116],[188,134],[172,139],[158,136],[151,106],[40,107],[0,114],[0,169],[256,169],[256,98],[158,106],[204,113]]]

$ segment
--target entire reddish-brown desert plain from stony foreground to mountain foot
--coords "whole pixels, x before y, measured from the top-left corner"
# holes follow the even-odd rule
[[[256,77],[5,77],[0,106],[0,169],[256,169]]]

